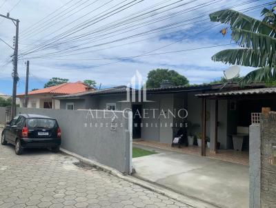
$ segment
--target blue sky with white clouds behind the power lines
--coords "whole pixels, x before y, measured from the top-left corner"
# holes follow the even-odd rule
[[[77,12],[79,8],[76,8],[69,14],[66,14],[66,12],[63,12],[61,15],[63,17],[55,17],[54,19],[63,19],[64,17],[67,17],[70,15],[70,18],[64,19],[64,21],[61,21],[58,23],[57,21],[50,23],[50,28],[47,28],[45,31],[40,32],[37,35],[28,37],[27,34],[22,34],[24,30],[26,30],[30,25],[33,23],[36,23],[41,19],[42,17],[45,17],[50,12],[56,10],[60,6],[63,5],[63,3],[66,3],[66,0],[49,0],[49,1],[39,1],[39,0],[24,0],[19,3],[19,5],[14,8],[14,10],[10,13],[10,17],[18,18],[20,20],[20,36],[19,41],[23,44],[39,44],[41,41],[37,41],[41,38],[49,39],[51,37],[55,37],[55,35],[59,34],[60,32],[66,31],[65,29],[69,29],[70,27],[66,27],[64,29],[61,29],[64,25],[70,23],[71,21],[74,21],[77,18],[80,18],[82,15],[86,14],[87,12],[90,12],[91,10],[95,10],[95,8],[103,5],[104,3],[107,3],[110,0],[104,0],[104,1],[95,1],[95,4],[88,6],[89,3],[92,1],[85,1],[81,0],[80,3],[83,3],[83,6],[79,8],[84,8],[83,10]],[[219,1],[219,0],[217,0]],[[14,6],[14,3],[17,1],[7,1],[5,6],[0,9],[1,14],[5,14],[12,6]],[[78,1],[72,1],[74,3]],[[86,3],[85,3],[86,2]],[[120,3],[122,1],[114,0],[110,3],[107,3],[106,6],[103,8],[91,12],[83,19],[80,19],[79,21],[76,21],[72,25],[77,25],[81,23],[81,21],[84,21],[90,17],[95,16],[98,14],[97,17],[100,17],[100,12],[104,12],[104,10],[110,8],[115,8],[117,3]],[[130,1],[127,1],[130,2]],[[89,32],[91,30],[96,30],[97,28],[101,28],[103,25],[106,25],[108,23],[112,23],[113,21],[117,21],[118,19],[127,17],[130,14],[133,14],[135,12],[143,11],[145,8],[148,8],[152,5],[155,5],[156,3],[161,3],[163,1],[158,0],[146,0],[141,3],[138,3],[136,6],[133,6],[129,8],[128,10],[124,10],[122,12],[119,12],[118,14],[105,19],[103,21],[100,21],[99,23],[95,23],[95,25],[91,25],[89,28],[86,28],[86,30],[82,30],[78,34],[83,34],[83,32]],[[165,1],[164,1],[165,2]],[[163,5],[166,5],[168,3],[173,3],[176,1],[170,0],[166,1]],[[187,2],[187,1],[183,1]],[[187,4],[186,6],[182,6],[179,8],[176,8],[175,10],[171,10],[168,12],[164,12],[160,14],[168,15],[172,14],[172,12],[176,11],[184,11],[187,8],[197,6],[199,7],[200,3],[206,3],[207,0],[198,0],[193,1],[193,3]],[[138,37],[135,39],[124,39],[123,41],[119,41],[117,43],[109,43],[107,45],[103,45],[100,47],[94,47],[89,50],[86,50],[87,53],[83,54],[75,54],[73,56],[63,56],[63,57],[56,57],[53,56],[53,59],[68,59],[68,60],[50,60],[50,59],[30,59],[30,70],[31,74],[33,76],[36,76],[38,79],[47,80],[52,78],[52,76],[59,76],[62,78],[68,78],[70,81],[78,81],[83,79],[95,79],[97,83],[102,83],[103,85],[121,85],[128,83],[130,77],[132,74],[135,73],[135,70],[139,70],[141,74],[146,79],[146,74],[157,67],[166,67],[170,68],[172,70],[177,70],[179,73],[184,74],[184,76],[187,76],[190,80],[190,83],[203,83],[212,81],[214,79],[219,78],[220,76],[223,76],[223,70],[225,70],[228,66],[221,64],[221,63],[215,63],[210,60],[210,57],[218,52],[219,50],[223,50],[225,48],[231,48],[234,46],[221,46],[218,48],[208,48],[204,50],[193,50],[188,52],[179,52],[179,53],[172,53],[172,54],[161,54],[161,55],[155,55],[155,56],[141,56],[139,58],[133,59],[134,62],[117,62],[116,60],[91,60],[91,61],[77,61],[77,59],[104,59],[106,57],[124,57],[124,56],[137,56],[139,54],[144,54],[145,52],[149,52],[152,50],[155,50],[157,48],[160,48],[164,45],[168,45],[170,43],[173,43],[175,39],[180,39],[181,37],[189,37],[191,34],[195,34],[204,28],[207,28],[208,25],[215,25],[215,23],[210,23],[210,21],[203,21],[203,19],[208,18],[208,13],[211,11],[219,10],[219,8],[226,8],[227,6],[235,6],[238,3],[246,2],[244,1],[226,1],[221,0],[211,6],[205,6],[203,8],[200,8],[198,10],[194,10],[193,12],[187,12],[181,15],[178,15],[176,17],[170,17],[164,21],[159,21],[155,24],[150,25],[144,25],[143,27],[133,30],[133,28],[130,28],[128,26],[128,32],[125,34],[119,34],[120,32],[125,32],[127,30],[119,30],[115,34],[108,34],[108,32],[102,32],[99,33],[99,37],[97,37],[97,34],[95,34],[92,38],[95,38],[93,41],[90,39],[90,43],[86,43],[83,46],[89,46],[89,45],[95,45],[99,43],[105,43],[106,41],[114,41],[115,39],[124,38],[127,36],[130,36],[132,34],[137,34],[139,32],[146,32],[148,30],[152,30],[154,28],[161,27],[163,25],[166,25],[168,23],[175,23],[176,21],[181,21],[185,19],[190,19],[193,17],[201,16],[200,18],[195,19],[201,20],[201,22],[193,23],[190,25],[183,25],[180,28],[175,28],[173,30],[167,30],[162,32],[157,32],[154,34],[147,34],[143,37]],[[262,2],[268,2],[268,1],[262,1]],[[73,3],[68,3],[66,8],[68,8],[67,11],[71,10],[70,6],[72,6]],[[124,3],[121,3],[123,5]],[[245,8],[255,6],[258,3],[251,3],[246,6]],[[177,4],[179,5],[179,3]],[[162,6],[160,4],[160,6]],[[159,7],[160,7],[159,6]],[[236,9],[242,9],[242,7],[236,8]],[[259,9],[260,10],[260,9]],[[255,17],[259,16],[259,10],[257,12],[251,13]],[[72,14],[73,12],[77,12],[76,14]],[[156,16],[156,17],[160,17]],[[145,19],[144,21],[150,21],[155,17],[149,17],[148,19]],[[144,22],[141,21],[141,22]],[[141,22],[136,22],[141,23]],[[187,23],[184,21],[182,24]],[[44,24],[45,25],[45,24]],[[72,26],[71,25],[71,26]],[[14,35],[14,25],[11,21],[5,20],[0,23],[0,38],[5,39],[8,41],[8,43],[12,44],[12,37]],[[4,30],[2,29],[4,28]],[[221,27],[220,27],[221,28]],[[56,30],[59,30],[58,32],[55,32]],[[116,30],[116,29],[115,29]],[[174,37],[175,39],[159,39],[160,37],[164,37],[164,34],[168,32],[174,32],[179,31],[180,33],[177,33]],[[34,30],[30,30],[28,34],[39,32],[39,28],[35,28]],[[225,37],[224,39],[221,39],[221,34],[218,33],[219,27],[217,27],[213,31],[212,36],[206,35],[204,33],[197,34],[195,37],[191,37],[189,39],[185,39],[184,41],[179,41],[179,43],[172,44],[166,48],[161,48],[159,50],[156,50],[152,53],[162,53],[162,52],[168,52],[168,51],[175,51],[175,50],[186,50],[190,48],[201,48],[201,47],[208,47],[210,45],[218,45],[218,44],[226,44],[230,43],[229,37]],[[55,33],[52,33],[55,32]],[[68,34],[68,33],[67,33]],[[117,35],[116,35],[117,34]],[[106,38],[108,37],[108,38]],[[149,39],[152,37],[152,39]],[[171,37],[171,35],[170,35]],[[25,39],[24,39],[25,38]],[[102,40],[100,40],[102,39]],[[142,39],[147,39],[144,41],[141,41]],[[132,41],[139,41],[137,43],[131,43]],[[84,43],[85,41],[81,41],[79,43]],[[128,44],[127,44],[128,43]],[[121,45],[125,44],[125,45]],[[66,46],[67,45],[67,46]],[[68,47],[68,45],[72,46],[74,43],[69,42],[66,45],[57,45],[60,48],[64,50],[64,47]],[[121,45],[121,46],[117,46]],[[117,47],[115,47],[117,46]],[[33,48],[34,45],[19,45],[19,49],[26,50]],[[103,50],[104,49],[104,50]],[[31,56],[41,55],[48,52],[56,52],[58,49],[51,49],[51,50],[42,50],[41,52],[38,52],[37,54],[29,55],[29,58]],[[94,50],[93,52],[91,52]],[[12,54],[12,50],[7,48],[6,45],[0,43],[0,63],[2,61],[5,61],[9,58],[9,56]],[[81,52],[81,51],[80,51]],[[24,77],[25,76],[25,65],[23,64],[26,61],[26,59],[23,59],[19,61],[19,76]],[[110,63],[110,64],[107,64]],[[10,74],[12,70],[12,65],[6,65],[5,67],[1,67],[0,70],[0,78],[3,79],[10,79]],[[250,71],[252,69],[246,69],[242,68],[242,75],[246,74],[246,72]]]

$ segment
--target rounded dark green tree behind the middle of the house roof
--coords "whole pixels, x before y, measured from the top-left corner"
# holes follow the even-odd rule
[[[176,86],[188,85],[189,81],[185,76],[175,72],[175,70],[157,69],[148,72],[148,79],[146,85],[148,88],[160,87],[162,81],[169,81]]]

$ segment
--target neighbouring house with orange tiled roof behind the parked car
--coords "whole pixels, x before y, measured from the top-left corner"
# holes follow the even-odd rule
[[[28,92],[28,107],[59,109],[59,101],[54,96],[75,94],[79,92],[92,92],[95,89],[77,81],[76,83],[63,83],[52,87]],[[20,107],[24,106],[25,94],[17,95],[20,98]]]

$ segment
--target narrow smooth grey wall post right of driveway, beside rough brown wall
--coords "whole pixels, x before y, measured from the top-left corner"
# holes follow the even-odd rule
[[[259,124],[249,127],[249,207],[261,207],[261,129]]]

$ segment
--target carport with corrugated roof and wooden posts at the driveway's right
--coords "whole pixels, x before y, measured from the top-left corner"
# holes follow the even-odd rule
[[[241,135],[244,129],[248,128],[251,124],[252,116],[258,116],[259,113],[267,110],[276,110],[276,87],[257,88],[250,90],[233,90],[229,92],[215,92],[206,94],[197,94],[202,101],[202,144],[201,156],[206,156],[206,101],[210,100],[213,103],[214,114],[211,114],[211,127],[213,127],[213,136],[210,137],[210,152],[217,154],[217,141],[218,141],[218,128],[219,122],[218,109],[219,101],[228,101],[228,114],[227,114],[227,133],[228,142],[231,147],[231,137]],[[240,128],[242,127],[242,128]],[[246,127],[246,128],[243,128]],[[244,145],[248,145],[249,141]],[[248,150],[248,149],[246,149]]]

